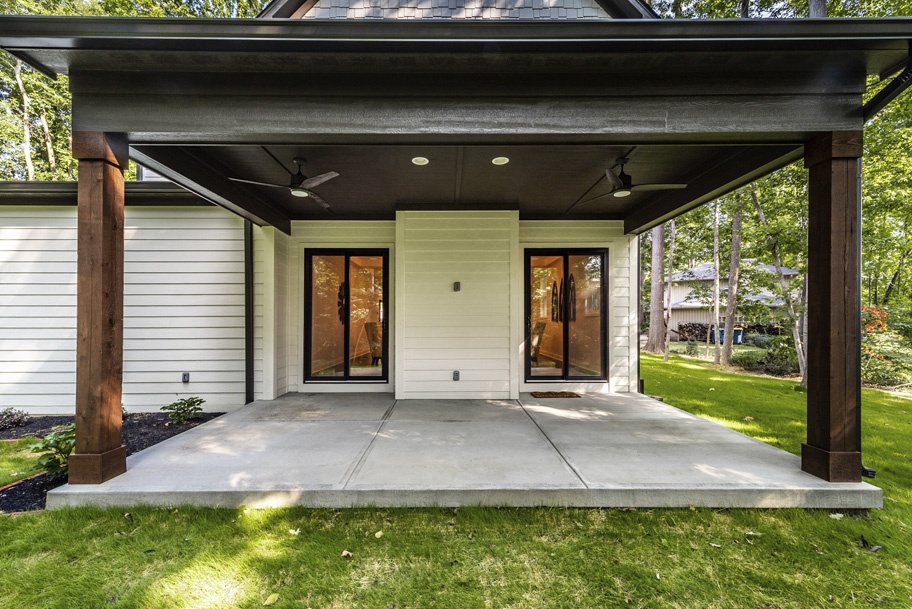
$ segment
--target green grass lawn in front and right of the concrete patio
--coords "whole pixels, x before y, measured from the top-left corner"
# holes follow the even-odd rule
[[[789,381],[681,358],[644,357],[643,375],[649,393],[786,450],[803,439]],[[912,402],[864,400],[865,462],[886,493],[868,515],[67,509],[0,517],[0,605],[908,608]]]

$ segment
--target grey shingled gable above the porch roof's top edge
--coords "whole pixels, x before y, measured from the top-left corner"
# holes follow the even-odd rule
[[[658,19],[640,0],[273,0],[266,19]]]

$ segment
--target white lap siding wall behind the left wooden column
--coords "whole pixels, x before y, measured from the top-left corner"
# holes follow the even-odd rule
[[[243,405],[242,220],[128,207],[124,234],[124,406]],[[0,407],[75,409],[76,251],[75,206],[0,206]]]

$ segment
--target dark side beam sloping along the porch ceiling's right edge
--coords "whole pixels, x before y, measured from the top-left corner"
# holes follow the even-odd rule
[[[624,218],[624,232],[639,234],[666,220],[750,184],[801,158],[800,146],[733,147],[702,165],[687,188],[650,197]]]

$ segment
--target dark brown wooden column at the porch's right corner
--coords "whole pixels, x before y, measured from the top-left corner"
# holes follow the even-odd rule
[[[859,159],[862,132],[805,144],[809,170],[808,441],[801,469],[861,480]]]

